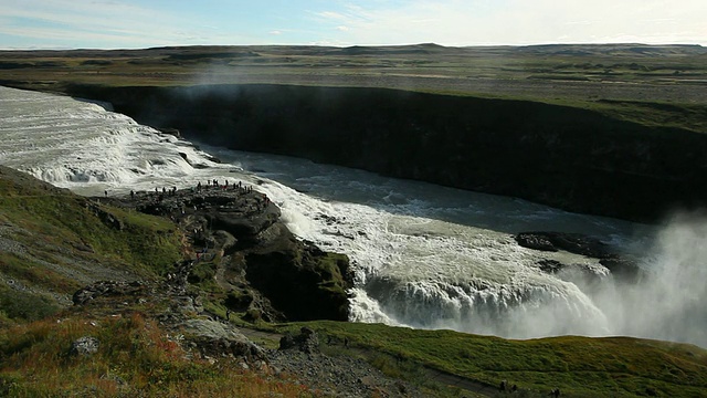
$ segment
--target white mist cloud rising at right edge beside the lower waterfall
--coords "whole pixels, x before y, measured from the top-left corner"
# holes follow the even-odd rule
[[[656,233],[636,283],[602,285],[594,301],[613,334],[707,347],[707,214],[673,216]]]

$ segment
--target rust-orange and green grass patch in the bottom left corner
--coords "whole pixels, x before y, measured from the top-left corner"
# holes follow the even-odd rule
[[[99,341],[97,353],[71,354],[83,336]],[[286,376],[243,370],[235,359],[189,358],[178,338],[139,313],[0,329],[0,396],[7,397],[313,396]]]

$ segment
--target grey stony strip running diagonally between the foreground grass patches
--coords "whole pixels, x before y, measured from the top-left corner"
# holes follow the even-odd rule
[[[192,359],[217,363],[236,360],[244,369],[252,369],[264,377],[297,380],[313,392],[329,397],[424,397],[418,387],[408,381],[383,375],[371,366],[354,348],[342,342],[325,342],[309,328],[298,335],[243,329],[202,306],[202,298],[190,290],[184,275],[191,263],[175,270],[175,277],[160,283],[151,282],[98,282],[86,286],[73,296],[72,312],[88,318],[102,316],[122,317],[137,310],[159,322]],[[278,348],[267,348],[253,343],[278,342]],[[77,347],[86,339],[76,342]],[[347,354],[324,354],[327,343],[337,345]],[[101,342],[96,342],[98,346]],[[78,349],[78,348],[77,348]]]

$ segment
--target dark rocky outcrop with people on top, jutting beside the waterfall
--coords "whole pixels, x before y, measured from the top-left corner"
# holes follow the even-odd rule
[[[223,305],[246,321],[348,321],[348,258],[298,241],[279,221],[279,208],[250,186],[220,181],[101,200],[169,217],[187,233],[192,259],[167,274],[177,292],[215,282],[225,291]],[[75,300],[117,287],[93,286]]]

